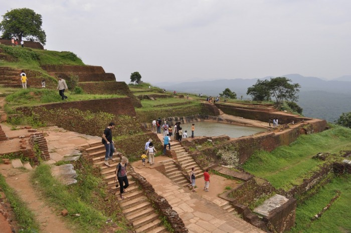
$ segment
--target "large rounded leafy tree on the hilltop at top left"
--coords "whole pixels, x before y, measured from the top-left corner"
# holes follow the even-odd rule
[[[4,39],[15,37],[22,41],[23,38],[26,38],[45,45],[46,34],[42,29],[42,24],[41,15],[28,8],[19,8],[3,15],[0,31],[3,32]]]

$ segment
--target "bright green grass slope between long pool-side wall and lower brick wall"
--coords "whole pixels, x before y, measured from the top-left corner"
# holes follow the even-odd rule
[[[267,179],[275,188],[288,190],[299,184],[322,161],[312,159],[318,152],[336,153],[351,149],[351,129],[335,127],[321,133],[302,135],[289,146],[272,152],[256,151],[243,164],[255,176]]]

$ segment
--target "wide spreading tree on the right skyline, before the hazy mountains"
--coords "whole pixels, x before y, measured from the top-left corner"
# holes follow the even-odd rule
[[[269,81],[257,80],[256,84],[247,89],[247,94],[251,95],[254,100],[269,100],[273,97],[277,108],[280,109],[284,100],[297,101],[298,99],[300,84],[289,82],[291,80],[285,77],[271,78]]]

